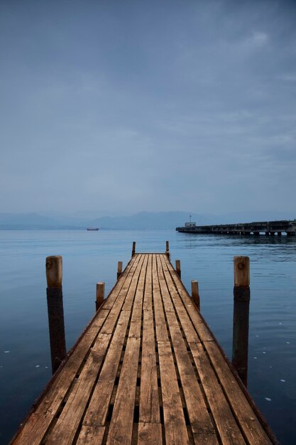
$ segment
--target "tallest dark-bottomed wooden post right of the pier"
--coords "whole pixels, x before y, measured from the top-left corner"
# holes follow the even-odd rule
[[[248,382],[248,313],[250,305],[250,259],[234,257],[234,331],[232,364],[246,386]]]

